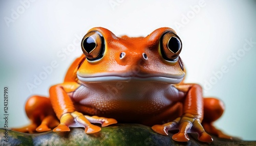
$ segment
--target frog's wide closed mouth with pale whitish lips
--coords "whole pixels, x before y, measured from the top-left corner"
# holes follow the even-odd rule
[[[78,80],[86,83],[95,83],[95,82],[130,82],[130,81],[145,81],[145,82],[161,82],[169,84],[178,84],[183,78],[182,75],[154,75],[154,76],[145,76],[145,75],[117,75],[117,74],[96,74],[94,76],[79,76],[77,74]]]

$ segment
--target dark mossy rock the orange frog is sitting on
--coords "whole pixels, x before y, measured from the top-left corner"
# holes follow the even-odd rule
[[[0,129],[0,145],[256,145],[256,141],[227,140],[215,136],[214,142],[204,143],[197,135],[189,135],[188,142],[172,140],[155,133],[150,127],[137,124],[117,124],[104,127],[98,133],[86,134],[83,128],[72,128],[70,132],[45,132],[26,134],[8,131],[9,141],[3,141],[5,129]]]

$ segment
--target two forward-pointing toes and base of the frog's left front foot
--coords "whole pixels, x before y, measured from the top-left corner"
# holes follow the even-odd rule
[[[53,131],[70,131],[69,127],[84,127],[84,132],[87,134],[96,133],[101,130],[100,127],[92,125],[82,113],[77,111],[63,114],[60,118],[60,124]]]

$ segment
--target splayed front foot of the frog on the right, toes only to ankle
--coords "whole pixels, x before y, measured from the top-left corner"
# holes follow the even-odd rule
[[[212,137],[204,131],[200,120],[194,118],[191,115],[184,115],[176,118],[173,122],[163,125],[155,125],[152,129],[162,135],[168,135],[169,130],[178,129],[179,132],[173,135],[173,140],[176,141],[188,141],[189,137],[187,133],[198,133],[198,139],[203,142],[212,142]]]

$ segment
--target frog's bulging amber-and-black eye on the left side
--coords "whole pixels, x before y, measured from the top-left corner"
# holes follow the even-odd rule
[[[81,47],[88,60],[100,59],[105,50],[104,38],[99,32],[91,31],[82,38]]]

